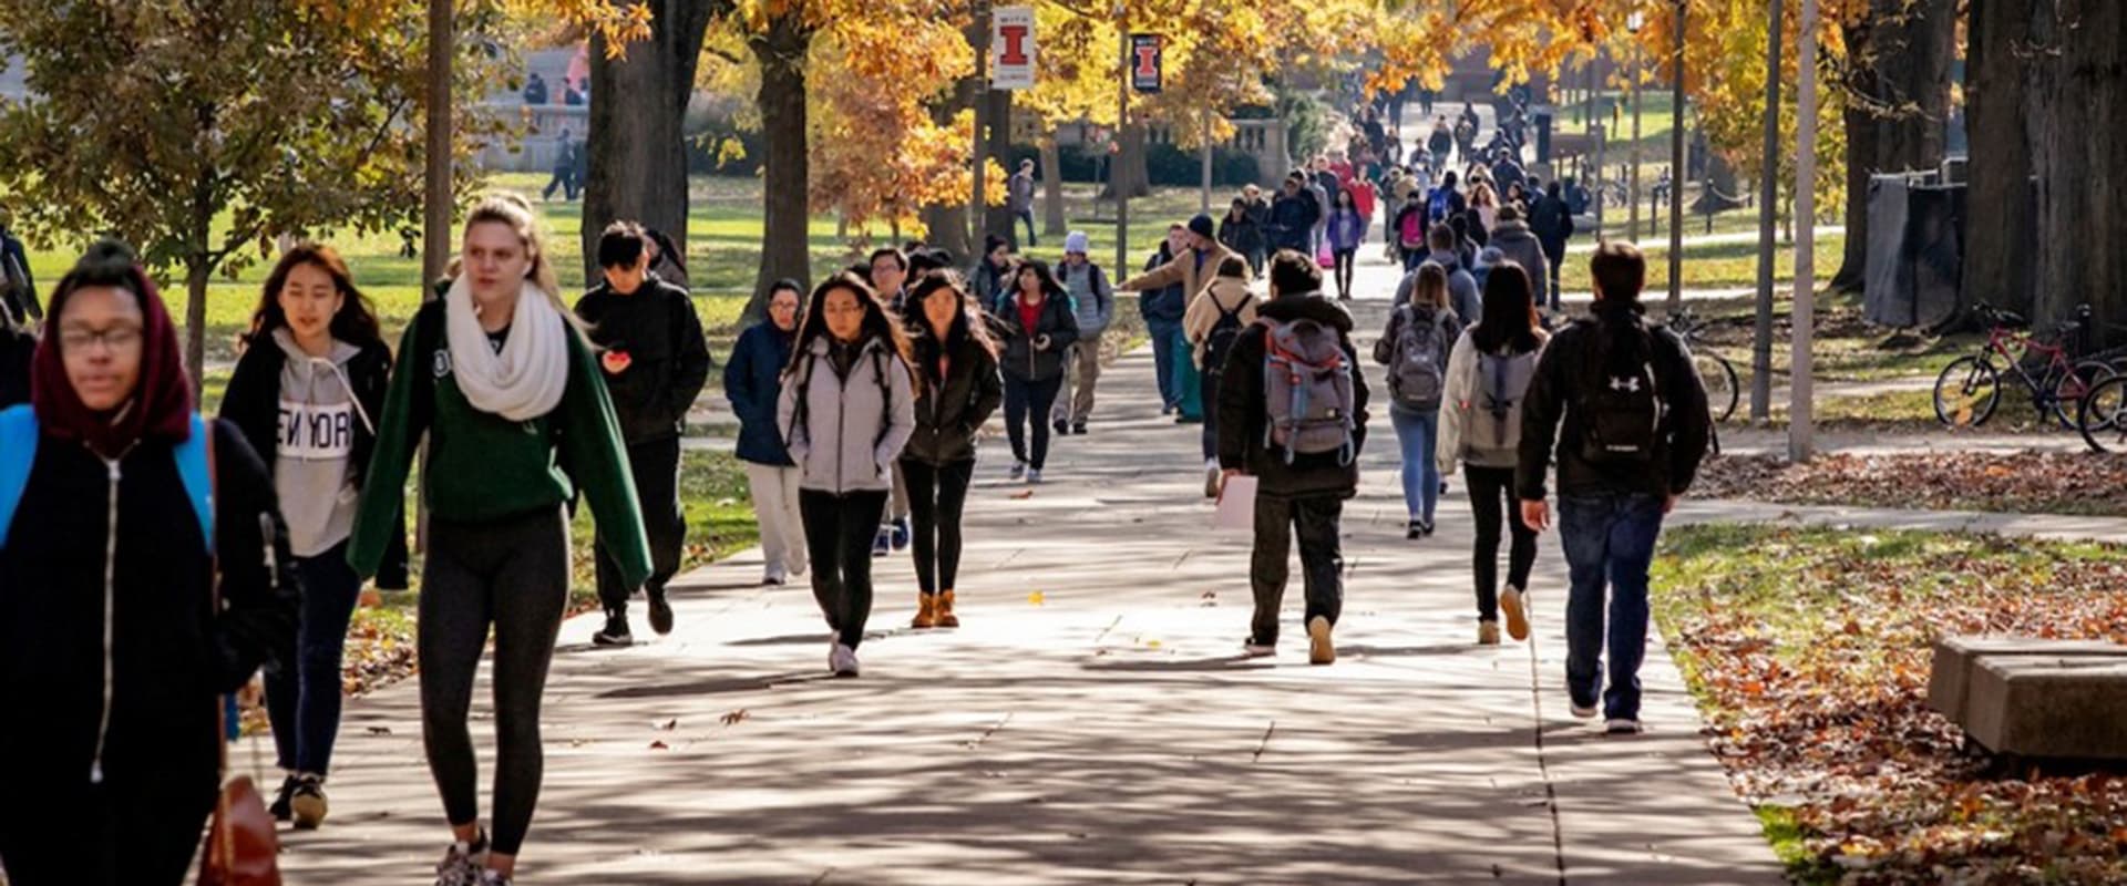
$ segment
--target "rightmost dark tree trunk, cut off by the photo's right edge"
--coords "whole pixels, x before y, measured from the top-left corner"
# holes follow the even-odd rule
[[[2118,59],[2127,8],[2031,6],[2023,113],[2038,181],[2033,321],[2065,321],[2089,302],[2095,331],[2118,338],[2108,325],[2127,321],[2127,251],[2114,246],[2127,238],[2127,206],[2118,200],[2127,187],[2127,66]]]

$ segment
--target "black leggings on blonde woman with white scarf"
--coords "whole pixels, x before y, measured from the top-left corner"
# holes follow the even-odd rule
[[[547,665],[568,608],[562,508],[489,523],[434,521],[421,567],[421,744],[453,827],[481,816],[472,759],[472,676],[496,631],[493,850],[517,854],[532,827],[545,756],[538,737]]]

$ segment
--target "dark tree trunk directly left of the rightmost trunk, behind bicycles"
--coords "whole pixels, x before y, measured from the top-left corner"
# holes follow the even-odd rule
[[[1963,236],[1963,302],[2031,310],[2038,240],[2031,236],[2031,144],[2025,138],[2025,55],[2036,0],[1972,0],[1965,49],[1965,125],[1972,136]],[[1972,212],[1967,212],[1970,217]]]

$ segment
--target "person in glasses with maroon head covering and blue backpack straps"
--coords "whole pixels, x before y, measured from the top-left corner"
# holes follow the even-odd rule
[[[266,465],[191,412],[177,327],[100,242],[0,412],[0,867],[179,886],[221,786],[221,693],[289,665],[296,574]]]

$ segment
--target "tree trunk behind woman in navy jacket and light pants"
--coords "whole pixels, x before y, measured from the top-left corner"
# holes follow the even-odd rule
[[[813,287],[804,106],[804,55],[813,45],[813,30],[798,13],[789,13],[770,21],[766,34],[747,42],[761,64],[761,89],[755,104],[761,110],[761,191],[766,204],[761,272],[744,312],[744,319],[751,321],[766,314],[768,287],[774,280],[791,278],[806,289]]]

